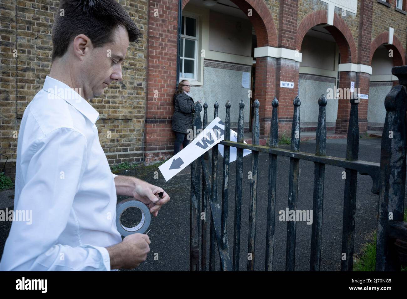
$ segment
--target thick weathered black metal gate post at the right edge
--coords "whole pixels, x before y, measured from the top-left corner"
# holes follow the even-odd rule
[[[380,157],[379,220],[377,223],[376,271],[400,271],[400,261],[389,236],[390,225],[403,221],[406,181],[406,85],[407,66],[392,68],[400,85],[385,99],[386,119]],[[404,233],[404,238],[407,238]]]

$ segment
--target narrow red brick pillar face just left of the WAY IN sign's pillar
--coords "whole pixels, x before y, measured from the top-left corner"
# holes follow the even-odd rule
[[[260,139],[268,140],[271,125],[271,102],[274,99],[276,81],[276,58],[257,57],[256,58],[256,89],[254,98],[260,102]]]

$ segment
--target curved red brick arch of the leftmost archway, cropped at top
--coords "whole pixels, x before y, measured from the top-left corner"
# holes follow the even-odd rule
[[[182,0],[182,9],[190,0]],[[256,31],[257,46],[277,47],[277,29],[270,10],[264,1],[259,0],[231,0],[241,11],[252,9],[253,16],[249,17]]]

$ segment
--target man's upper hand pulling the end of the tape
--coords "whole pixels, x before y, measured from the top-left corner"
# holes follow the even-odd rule
[[[161,206],[170,201],[170,196],[158,186],[151,185],[140,179],[137,180],[133,197],[142,203],[148,204],[147,207],[149,208],[150,213],[153,214],[154,217],[157,217]],[[158,195],[160,192],[163,193],[161,199]]]

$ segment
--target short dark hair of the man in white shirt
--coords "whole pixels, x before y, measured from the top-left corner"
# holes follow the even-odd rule
[[[127,30],[129,41],[139,43],[140,30],[115,0],[61,0],[52,28],[52,60],[62,57],[79,34],[89,37],[95,48],[112,42],[118,26]]]

